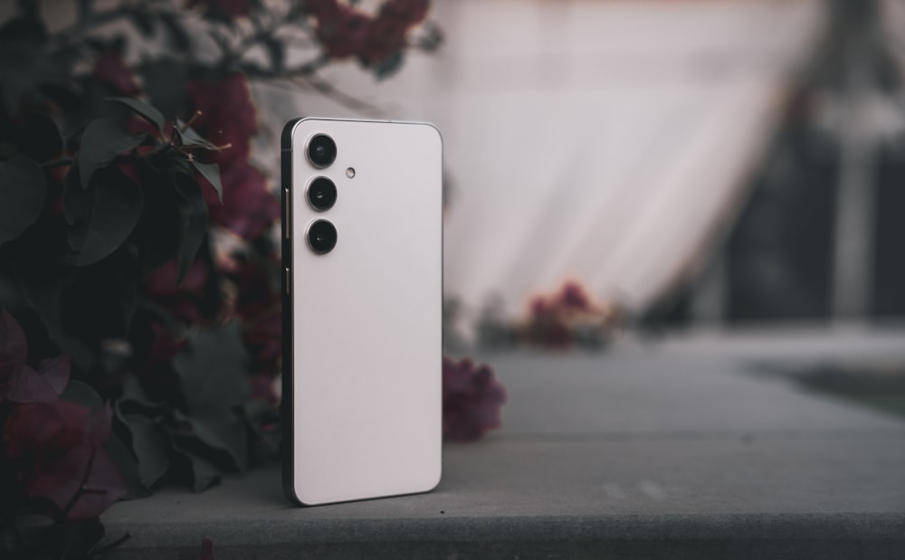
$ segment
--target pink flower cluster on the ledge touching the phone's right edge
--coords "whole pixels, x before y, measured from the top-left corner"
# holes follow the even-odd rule
[[[474,441],[499,428],[506,389],[487,365],[443,357],[443,437]]]

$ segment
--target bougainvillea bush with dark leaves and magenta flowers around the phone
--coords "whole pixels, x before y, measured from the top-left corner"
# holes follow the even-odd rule
[[[93,555],[116,499],[274,455],[281,213],[250,82],[354,106],[321,69],[383,79],[441,41],[428,0],[74,5],[0,22],[3,557]],[[499,423],[488,373],[451,385],[451,437]],[[25,535],[25,513],[52,524]]]

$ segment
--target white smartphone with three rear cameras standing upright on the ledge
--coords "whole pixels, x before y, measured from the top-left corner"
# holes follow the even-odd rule
[[[443,142],[424,123],[282,134],[283,490],[302,505],[440,481]]]

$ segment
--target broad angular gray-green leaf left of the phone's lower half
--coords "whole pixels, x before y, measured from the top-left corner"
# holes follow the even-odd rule
[[[239,328],[233,321],[202,332],[173,359],[192,415],[241,406],[248,400],[248,355]]]

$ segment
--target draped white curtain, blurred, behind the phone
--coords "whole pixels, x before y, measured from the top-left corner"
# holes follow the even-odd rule
[[[327,75],[384,118],[443,131],[445,287],[466,308],[496,294],[517,317],[532,293],[576,279],[639,310],[693,269],[744,200],[824,11],[816,0],[437,0],[441,52],[384,82],[354,63]],[[357,114],[311,93],[255,93],[275,131],[299,114]],[[276,169],[277,152],[263,153]]]

